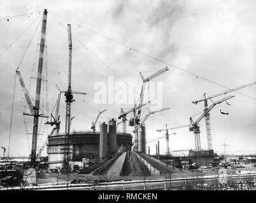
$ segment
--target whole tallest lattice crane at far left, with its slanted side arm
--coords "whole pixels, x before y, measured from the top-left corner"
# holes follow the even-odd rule
[[[39,114],[39,106],[40,106],[40,96],[41,96],[41,81],[42,81],[42,72],[43,72],[43,60],[44,60],[44,53],[45,53],[45,33],[46,33],[46,19],[47,19],[47,10],[43,11],[43,20],[42,20],[42,27],[41,27],[41,39],[40,39],[40,48],[39,48],[39,59],[38,59],[38,76],[36,78],[36,100],[35,105],[32,105],[31,99],[29,97],[29,92],[25,88],[24,81],[18,71],[16,70],[16,74],[18,75],[20,85],[24,91],[25,100],[27,101],[27,105],[29,106],[29,110],[31,114],[24,114],[24,115],[31,115],[34,117],[33,121],[33,132],[32,132],[32,147],[31,147],[31,166],[36,166],[36,145],[38,141],[38,119],[39,117],[46,117],[43,114]]]

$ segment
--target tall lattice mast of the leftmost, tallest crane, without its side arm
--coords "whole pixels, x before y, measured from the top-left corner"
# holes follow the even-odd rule
[[[41,95],[41,81],[43,72],[43,56],[45,52],[45,33],[46,33],[46,19],[47,10],[43,12],[43,20],[41,27],[41,40],[39,49],[39,60],[38,60],[38,77],[36,80],[36,100],[34,105],[34,125],[32,132],[32,147],[31,147],[31,165],[36,164],[36,145],[38,141],[38,119],[39,119],[39,105],[40,105],[40,95]]]

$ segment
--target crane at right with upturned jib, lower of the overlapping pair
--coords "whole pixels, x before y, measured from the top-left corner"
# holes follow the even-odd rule
[[[222,103],[223,101],[229,100],[231,98],[233,98],[234,96],[227,96],[225,98],[222,98],[221,100],[216,101],[215,103],[213,103],[208,109],[207,111],[204,111],[204,113],[202,115],[199,116],[199,118],[194,122],[192,120],[192,117],[190,117],[190,127],[189,127],[189,131],[194,131],[195,134],[195,142],[196,142],[196,151],[199,152],[201,151],[201,142],[200,142],[200,130],[199,130],[199,122],[206,116],[209,114],[210,110],[213,109],[213,107],[215,107],[215,105]]]

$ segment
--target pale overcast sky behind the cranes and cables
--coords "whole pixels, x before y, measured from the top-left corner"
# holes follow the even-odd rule
[[[189,117],[203,110],[203,103],[194,105],[192,100],[202,98],[203,93],[211,95],[256,81],[256,1],[4,1],[0,2],[0,16],[11,16],[31,11],[49,11],[47,17],[48,45],[48,100],[50,112],[57,100],[57,84],[66,90],[68,82],[68,35],[64,27],[71,23],[73,36],[72,89],[85,91],[88,95],[74,95],[71,114],[71,131],[88,130],[97,117],[98,110],[107,108],[99,121],[117,118],[120,108],[132,105],[97,105],[94,95],[97,82],[108,84],[108,78],[114,82],[134,82],[141,88],[139,72],[148,76],[166,66],[169,71],[153,79],[162,82],[162,106],[170,110],[151,115],[146,121],[146,139],[151,140],[163,135],[156,129],[188,124]],[[66,18],[60,18],[55,14]],[[31,24],[15,43],[11,43]],[[31,41],[20,72],[25,85],[29,78],[36,77],[42,12],[19,18],[0,18],[0,145],[8,147],[10,132],[11,100],[15,70],[24,54],[36,26],[38,30]],[[53,17],[54,16],[54,17]],[[59,22],[57,22],[57,20]],[[64,27],[62,27],[62,25]],[[77,23],[77,24],[75,24]],[[80,26],[79,26],[80,25]],[[97,35],[85,27],[106,37]],[[82,45],[82,43],[84,46]],[[120,43],[117,43],[120,42]],[[123,45],[122,45],[123,44]],[[124,46],[126,45],[126,46]],[[85,46],[88,48],[86,49]],[[131,49],[130,49],[131,48]],[[90,50],[90,51],[89,51]],[[142,53],[136,51],[139,50]],[[166,62],[160,62],[143,54],[146,53]],[[36,59],[35,59],[36,56]],[[100,60],[99,60],[100,59]],[[33,69],[34,60],[36,61]],[[183,72],[171,65],[188,71]],[[196,77],[199,75],[199,77]],[[203,77],[204,79],[202,79]],[[206,79],[206,80],[205,80]],[[216,84],[207,81],[213,81]],[[139,84],[138,84],[139,81]],[[32,80],[30,93],[35,97],[35,81]],[[42,88],[41,103],[45,101]],[[211,110],[211,134],[213,149],[223,152],[224,143],[229,144],[228,151],[256,150],[256,86],[240,89],[239,93]],[[139,93],[139,91],[138,91]],[[250,97],[249,97],[250,96]],[[214,98],[214,101],[225,96]],[[253,99],[254,98],[254,99]],[[148,98],[145,96],[145,101]],[[33,101],[34,102],[34,101]],[[211,105],[211,101],[209,101]],[[42,107],[42,108],[45,108]],[[60,103],[60,131],[64,132],[66,103],[64,96]],[[220,110],[229,115],[220,114]],[[143,109],[143,116],[146,114]],[[199,117],[199,115],[197,115]],[[194,117],[197,119],[197,117]],[[129,118],[129,117],[128,117]],[[29,133],[32,133],[32,119],[27,117]],[[201,126],[201,147],[207,149],[205,122]],[[43,129],[43,125],[41,127]],[[52,127],[46,126],[45,134],[39,136],[42,143]],[[99,126],[97,125],[97,129]],[[122,126],[118,129],[121,131]],[[127,131],[132,128],[127,126]],[[188,128],[175,129],[171,135],[171,150],[194,148],[194,134]],[[10,155],[29,155],[29,146],[22,118],[20,84],[16,84],[13,106],[13,128],[11,133]],[[155,143],[149,143],[155,153]],[[164,139],[160,141],[160,152],[164,152]],[[2,153],[2,152],[1,152]]]

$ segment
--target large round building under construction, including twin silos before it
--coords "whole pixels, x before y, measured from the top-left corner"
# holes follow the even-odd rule
[[[122,146],[131,148],[131,134],[115,133],[115,127],[109,127],[110,130],[107,131],[107,124],[103,123],[101,124],[101,132],[82,131],[48,136],[49,168],[61,168],[64,155],[67,152],[71,166],[82,166],[82,159],[101,160],[117,152],[117,149]]]

